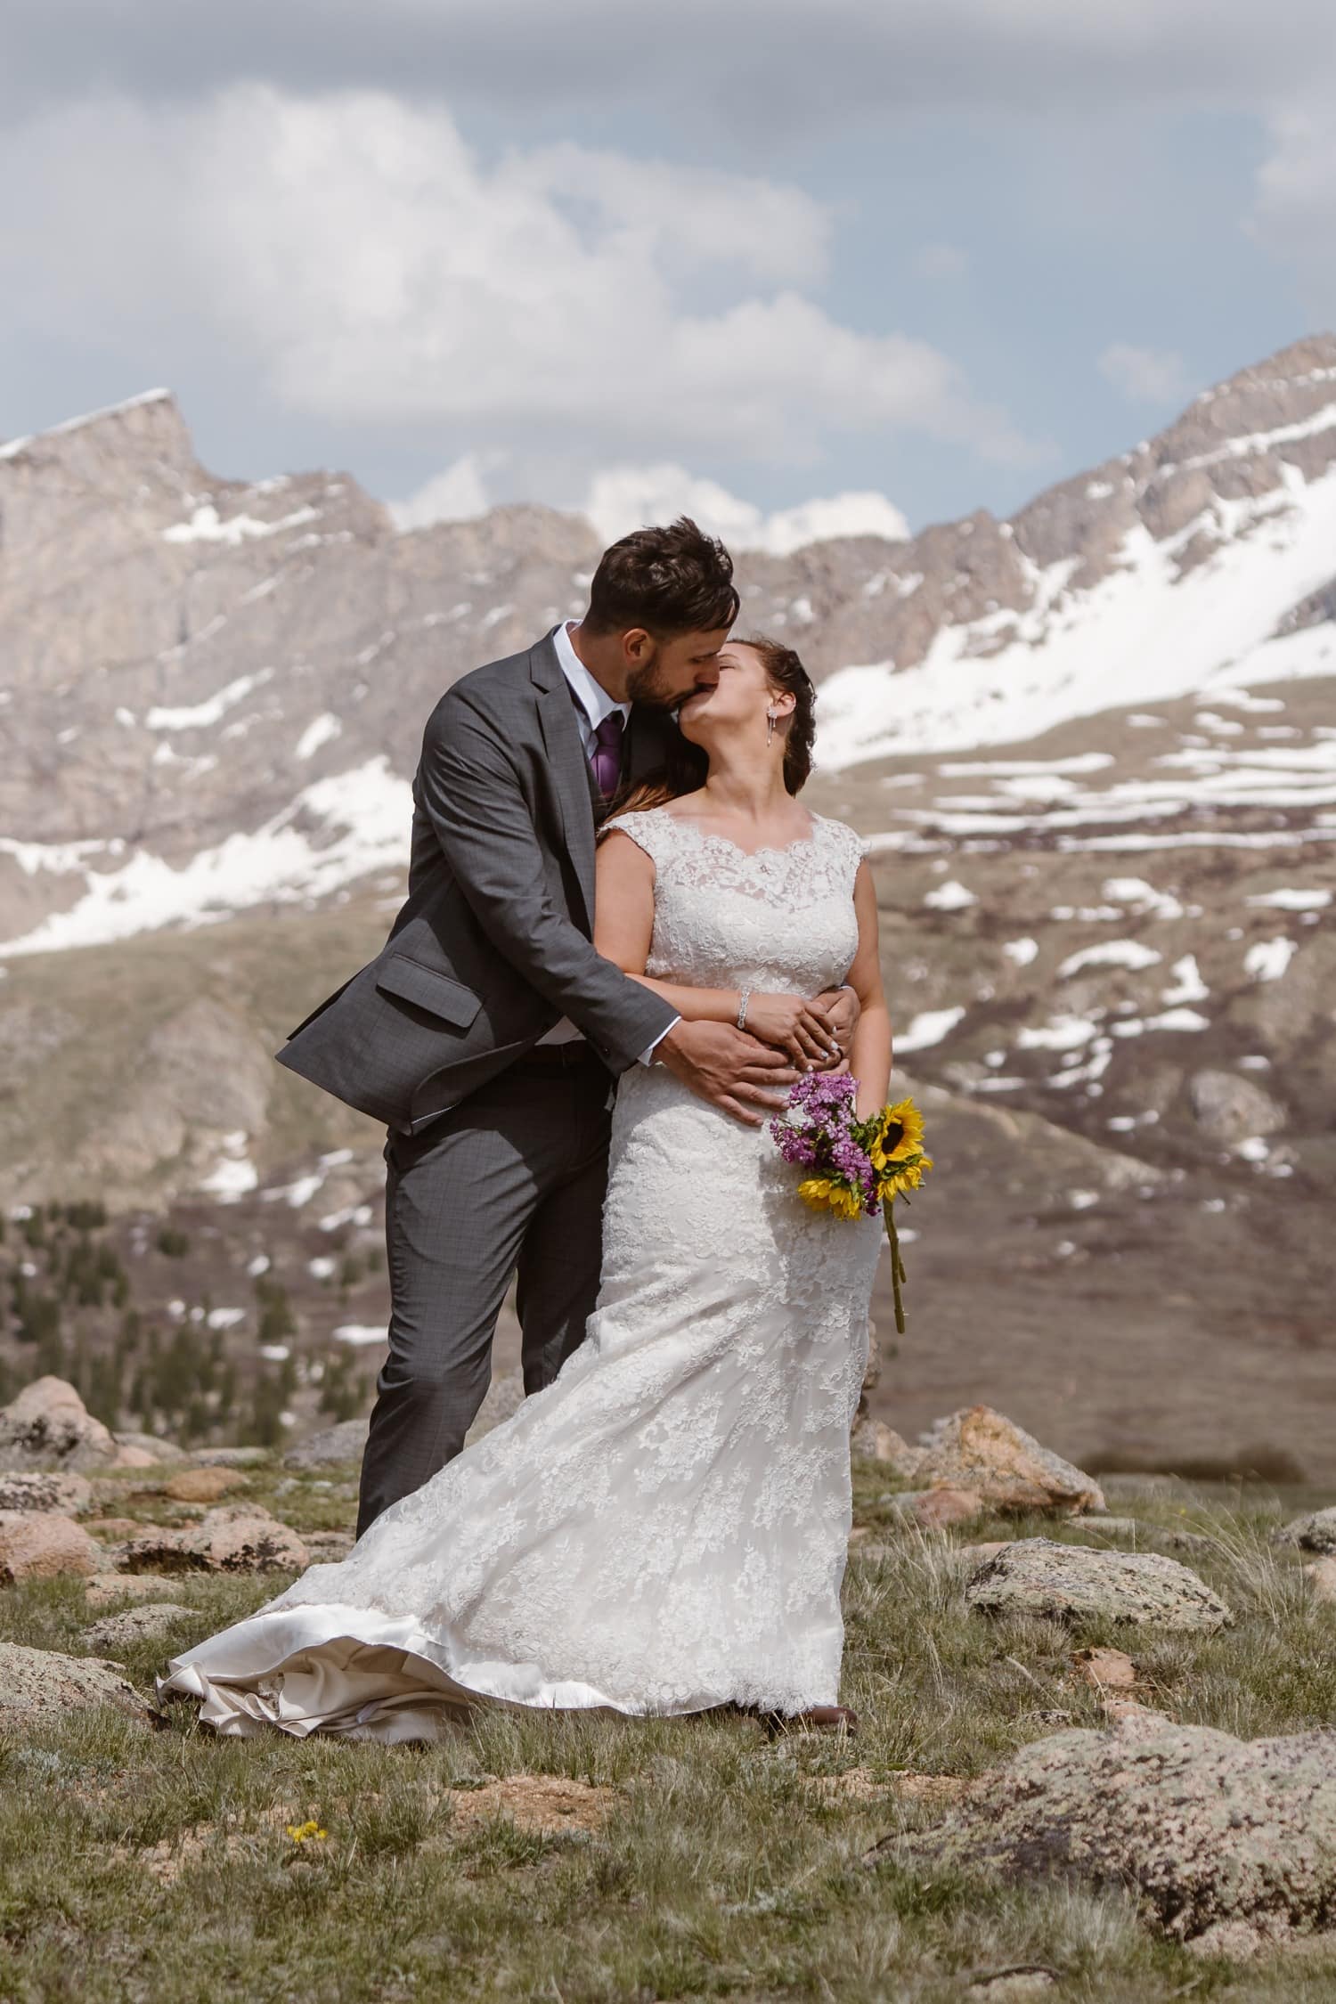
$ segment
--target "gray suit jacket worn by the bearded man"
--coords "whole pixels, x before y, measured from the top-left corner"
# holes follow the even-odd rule
[[[631,711],[631,778],[661,762],[671,729]],[[278,1062],[405,1134],[561,1016],[623,1072],[675,1012],[589,944],[595,812],[551,633],[457,681],[423,733],[403,910]]]

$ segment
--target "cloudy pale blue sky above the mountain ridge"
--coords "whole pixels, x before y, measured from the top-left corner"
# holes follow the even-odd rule
[[[10,14],[0,433],[168,383],[409,519],[917,529],[1336,321],[1326,0]]]

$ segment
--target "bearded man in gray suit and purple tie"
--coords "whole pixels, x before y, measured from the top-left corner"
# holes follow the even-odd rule
[[[721,543],[687,519],[641,529],[605,551],[577,627],[447,689],[413,782],[407,902],[278,1052],[389,1128],[389,1359],[359,1537],[463,1447],[513,1273],[525,1391],[581,1343],[611,1074],[667,1064],[751,1120],[797,1076],[741,1030],[679,1022],[591,946],[595,828],[663,762],[669,711],[717,679],[737,605]]]

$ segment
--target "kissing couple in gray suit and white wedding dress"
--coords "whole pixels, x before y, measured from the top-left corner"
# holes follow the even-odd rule
[[[347,1559],[186,1649],[222,1733],[431,1739],[461,1707],[849,1725],[839,1587],[875,1218],[767,1120],[891,1028],[863,844],[799,800],[813,685],[729,639],[721,543],[601,559],[589,611],[453,683],[409,896],[280,1062],[389,1134],[389,1357]],[[525,1401],[465,1447],[519,1275]]]

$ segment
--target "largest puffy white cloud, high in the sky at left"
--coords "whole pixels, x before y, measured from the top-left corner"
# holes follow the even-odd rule
[[[797,461],[897,427],[1032,455],[929,343],[803,295],[829,216],[799,188],[581,146],[489,166],[441,106],[264,84],[42,112],[0,172],[28,190],[0,281],[30,327],[128,353],[202,327],[294,413],[463,447],[579,427],[585,463],[599,441]]]

